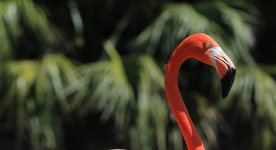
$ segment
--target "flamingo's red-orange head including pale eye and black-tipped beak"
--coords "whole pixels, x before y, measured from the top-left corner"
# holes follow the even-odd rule
[[[197,33],[183,40],[180,46],[188,47],[186,49],[192,58],[216,67],[221,80],[222,97],[225,98],[232,87],[236,68],[219,44],[211,36]]]

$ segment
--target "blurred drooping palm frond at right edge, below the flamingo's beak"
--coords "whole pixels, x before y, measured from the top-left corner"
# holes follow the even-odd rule
[[[275,140],[275,88],[275,80],[257,66],[240,66],[229,97],[218,103],[224,111],[234,107],[232,117],[252,125],[252,143],[260,149],[271,148]],[[259,140],[260,136],[265,139]]]

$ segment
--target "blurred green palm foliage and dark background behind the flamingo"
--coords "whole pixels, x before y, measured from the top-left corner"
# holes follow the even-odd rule
[[[256,6],[0,0],[1,149],[186,149],[164,68],[197,32],[211,35],[237,69],[226,99],[211,66],[189,59],[180,69],[206,149],[276,148],[276,61],[266,43],[275,29],[264,29],[267,5]]]

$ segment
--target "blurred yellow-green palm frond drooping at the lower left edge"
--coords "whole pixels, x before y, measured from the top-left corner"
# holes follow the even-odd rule
[[[8,90],[0,114],[16,112],[17,146],[30,136],[34,149],[55,149],[59,131],[55,130],[54,105],[58,102],[64,113],[70,111],[64,87],[77,78],[77,69],[63,55],[48,54],[41,61],[9,60],[6,70]],[[26,129],[30,134],[25,135]]]

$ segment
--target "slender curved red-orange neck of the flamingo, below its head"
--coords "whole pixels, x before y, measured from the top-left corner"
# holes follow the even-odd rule
[[[165,70],[165,90],[167,99],[172,110],[172,113],[180,127],[182,135],[187,143],[188,149],[204,149],[201,138],[197,132],[195,125],[193,124],[189,112],[183,102],[177,84],[178,70],[183,61],[188,59],[188,53],[186,50],[182,50],[182,54],[177,54],[177,47],[166,65]]]

